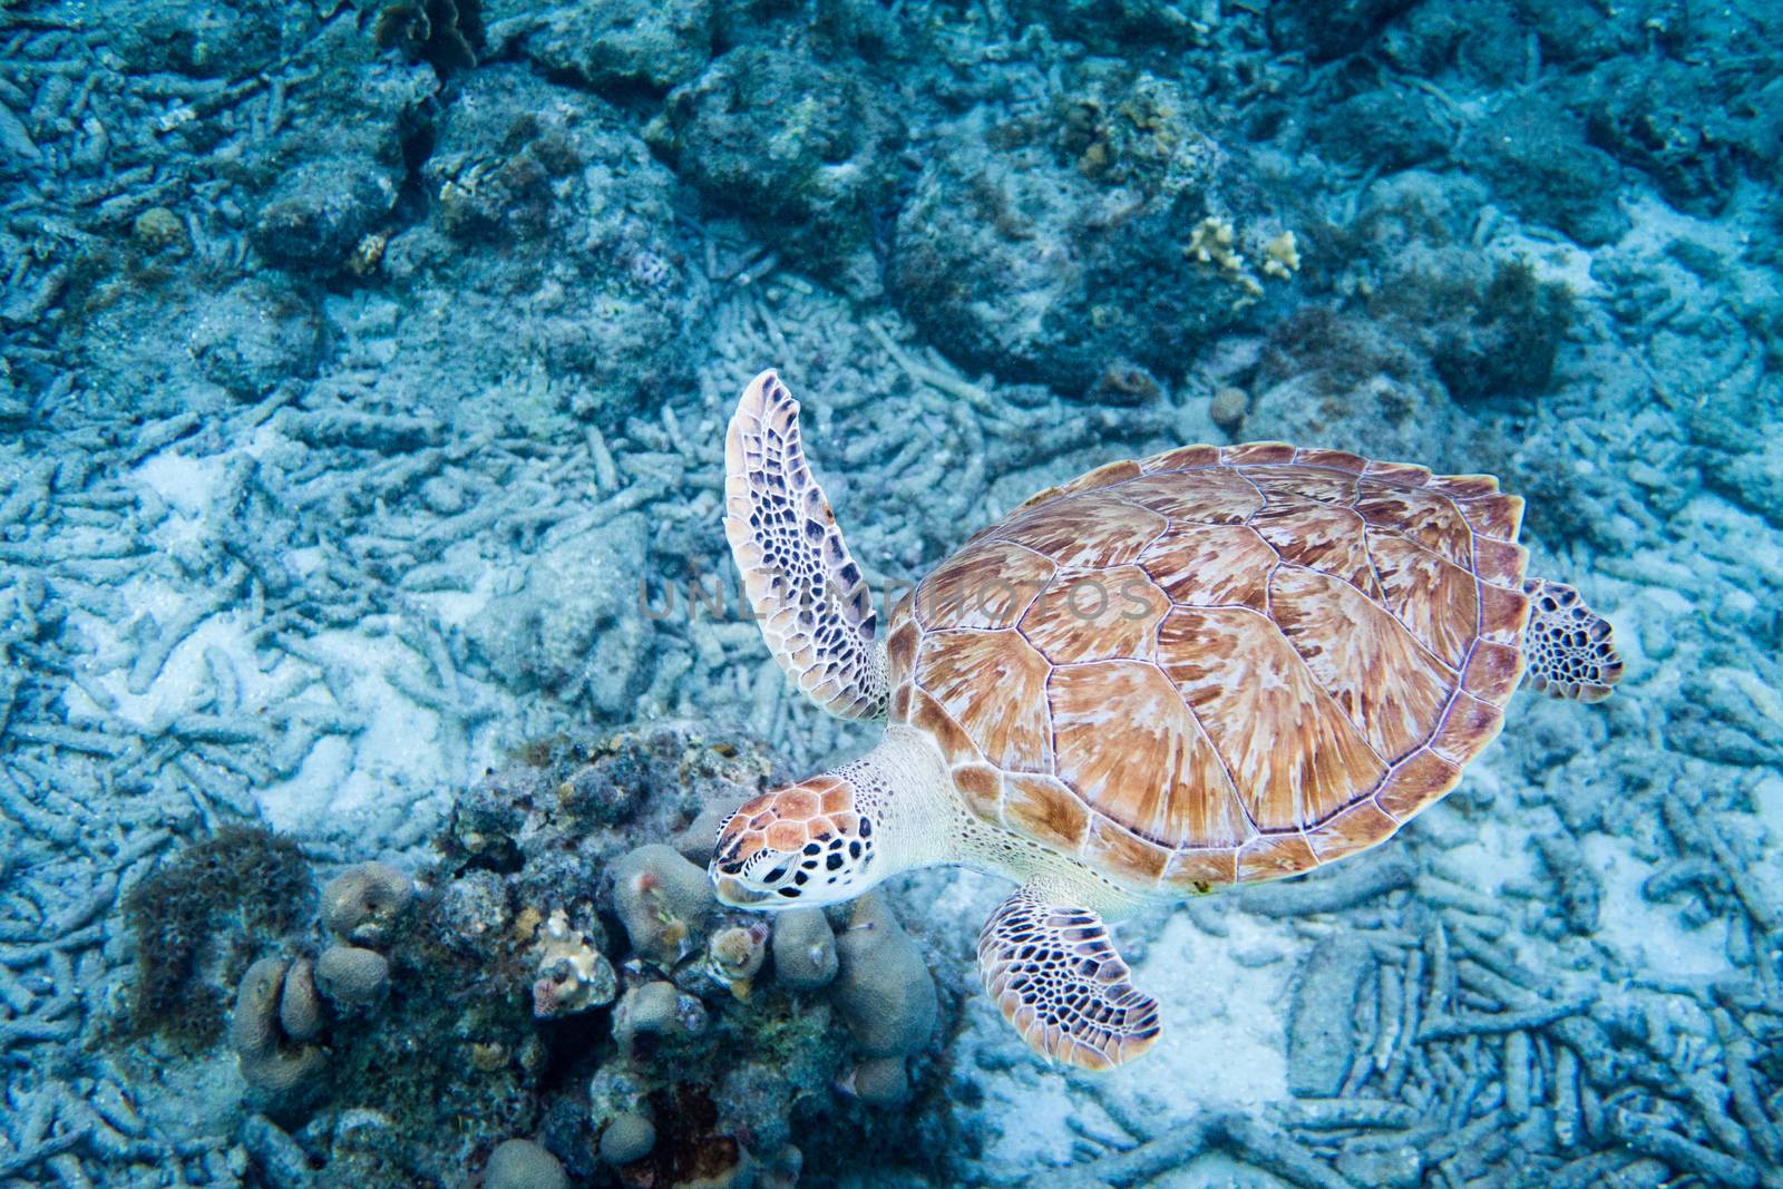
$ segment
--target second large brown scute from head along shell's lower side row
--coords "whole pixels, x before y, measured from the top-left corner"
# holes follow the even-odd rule
[[[1088,806],[1166,847],[1243,841],[1225,765],[1155,665],[1057,668],[1047,692],[1059,779]]]

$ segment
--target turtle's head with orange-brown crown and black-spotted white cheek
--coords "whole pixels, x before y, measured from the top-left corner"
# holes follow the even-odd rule
[[[731,907],[840,904],[875,881],[874,822],[854,788],[818,775],[744,802],[719,827],[711,882]]]

